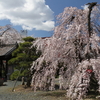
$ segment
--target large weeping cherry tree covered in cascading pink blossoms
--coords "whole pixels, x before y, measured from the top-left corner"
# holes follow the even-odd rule
[[[60,89],[69,88],[69,98],[82,98],[91,77],[86,70],[95,71],[95,77],[99,79],[99,28],[100,5],[97,3],[87,4],[87,9],[66,7],[57,17],[54,35],[50,38],[39,38],[35,42],[37,48],[42,50],[42,55],[33,62],[31,68],[34,71],[33,89],[54,90],[54,81],[58,76]],[[89,66],[92,67],[89,69]],[[80,89],[83,94],[79,94],[77,85],[83,85],[84,82],[80,82],[83,74],[88,78],[87,83],[84,81],[84,90]]]

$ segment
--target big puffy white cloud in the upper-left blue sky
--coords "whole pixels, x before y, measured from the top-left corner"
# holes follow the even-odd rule
[[[0,20],[9,19],[23,29],[50,31],[54,28],[53,14],[45,0],[0,0]]]

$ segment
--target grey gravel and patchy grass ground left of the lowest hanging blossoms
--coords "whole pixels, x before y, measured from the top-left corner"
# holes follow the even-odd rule
[[[66,100],[65,91],[37,91],[33,92],[31,90],[12,92],[14,81],[8,81],[5,86],[0,86],[0,100]],[[20,85],[21,82],[17,82],[16,86]]]

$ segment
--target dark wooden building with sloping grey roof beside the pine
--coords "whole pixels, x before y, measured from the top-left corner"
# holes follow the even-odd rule
[[[0,78],[9,79],[14,68],[8,66],[8,60],[12,58],[12,52],[18,47],[18,44],[2,44],[0,45]]]

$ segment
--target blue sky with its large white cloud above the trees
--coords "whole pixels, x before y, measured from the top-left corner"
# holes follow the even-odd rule
[[[0,0],[0,25],[11,24],[28,35],[48,37],[53,34],[55,16],[65,7],[78,7],[100,0]]]

